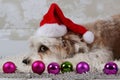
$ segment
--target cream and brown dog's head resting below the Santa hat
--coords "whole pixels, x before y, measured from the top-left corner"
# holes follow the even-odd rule
[[[73,57],[77,53],[88,52],[87,44],[79,35],[71,32],[58,38],[33,36],[30,38],[30,48],[31,54],[23,60],[26,65],[30,65],[36,60],[41,60],[45,64],[61,63],[64,59]]]

